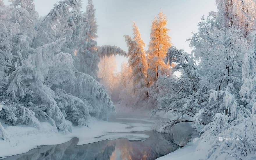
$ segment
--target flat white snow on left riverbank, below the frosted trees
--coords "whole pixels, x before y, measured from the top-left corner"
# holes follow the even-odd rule
[[[140,119],[141,120],[141,119]],[[39,129],[29,126],[6,126],[5,129],[11,136],[11,141],[0,140],[1,157],[28,152],[40,145],[56,145],[70,141],[72,137],[79,138],[78,145],[94,143],[103,140],[127,138],[128,140],[145,141],[149,138],[146,134],[120,133],[131,131],[146,131],[152,128],[149,123],[123,124],[117,122],[99,121],[91,118],[88,126],[76,126],[72,133],[56,133],[48,122],[41,122]],[[134,127],[135,126],[135,127]]]

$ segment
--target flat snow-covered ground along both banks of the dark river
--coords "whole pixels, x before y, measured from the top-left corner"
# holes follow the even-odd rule
[[[0,140],[0,159],[16,154],[26,153],[33,148],[42,145],[56,145],[70,141],[72,137],[79,138],[77,145],[94,143],[103,140],[113,140],[118,138],[127,138],[128,140],[144,141],[149,138],[147,134],[133,133],[132,131],[148,131],[152,130],[155,119],[148,118],[117,118],[114,122],[99,121],[91,118],[88,126],[72,127],[72,133],[63,134],[56,132],[48,122],[41,122],[39,129],[28,126],[5,126],[6,131],[11,135],[10,141]],[[172,133],[173,138],[179,143],[179,135],[184,130],[184,126],[179,126]],[[127,133],[131,132],[131,133]],[[178,134],[179,133],[179,134]],[[195,138],[195,137],[193,137]],[[189,142],[184,147],[176,150],[166,156],[160,157],[160,160],[168,159],[192,159],[198,160],[203,158],[204,150],[196,150],[198,141]],[[198,139],[197,139],[198,140]],[[203,149],[204,147],[202,147]],[[200,157],[200,155],[202,155]]]

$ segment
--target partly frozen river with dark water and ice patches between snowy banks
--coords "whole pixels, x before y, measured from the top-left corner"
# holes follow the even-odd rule
[[[111,121],[129,125],[128,129],[136,127],[149,129],[154,123],[150,119],[136,118],[118,118]],[[110,136],[112,134],[113,138]],[[150,130],[106,132],[106,135],[108,135],[107,140],[85,145],[78,145],[79,138],[74,137],[66,143],[38,146],[27,153],[10,156],[4,160],[153,160],[180,147],[173,141],[172,135]],[[129,136],[132,135],[136,135],[137,138],[130,139]],[[101,139],[104,136],[94,138]]]

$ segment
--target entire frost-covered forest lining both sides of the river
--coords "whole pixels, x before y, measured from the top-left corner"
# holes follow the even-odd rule
[[[256,154],[256,2],[216,0],[187,41],[192,53],[171,43],[166,15],[153,18],[150,42],[138,26],[124,35],[128,51],[97,45],[92,0],[62,0],[39,17],[33,0],[0,0],[0,138],[2,123],[49,122],[67,134],[95,117],[108,120],[115,105],[174,118],[201,131],[207,159],[253,159]],[[150,27],[150,26],[149,26]],[[178,31],[175,31],[178,32]],[[116,72],[115,55],[128,57]],[[175,76],[180,72],[180,76]],[[238,141],[219,137],[237,137]],[[254,156],[254,157],[253,157]]]

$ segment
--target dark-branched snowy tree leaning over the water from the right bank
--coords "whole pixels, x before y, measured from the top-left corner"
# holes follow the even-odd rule
[[[179,70],[181,77],[160,77],[157,81],[159,86],[157,111],[172,111],[176,115],[176,119],[164,122],[162,129],[168,129],[180,122],[195,122],[193,116],[197,109],[200,109],[200,104],[197,98],[201,98],[197,94],[200,88],[200,75],[196,70],[196,63],[191,54],[178,50],[175,47],[170,47],[165,58],[166,64],[175,63],[173,72]],[[168,90],[171,94],[161,93],[163,90]],[[200,100],[200,99],[199,99]],[[201,107],[202,108],[202,107]],[[206,116],[208,117],[208,116]],[[162,131],[161,131],[162,132]]]

